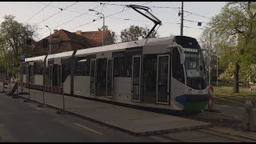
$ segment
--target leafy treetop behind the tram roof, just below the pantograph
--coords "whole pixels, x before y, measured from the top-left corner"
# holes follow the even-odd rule
[[[148,26],[140,27],[140,26],[130,26],[121,31],[120,38],[122,42],[130,42],[130,41],[137,41],[139,38],[146,38],[146,35],[149,34],[150,29]],[[156,33],[154,30],[150,34],[149,38],[157,38],[159,34]]]

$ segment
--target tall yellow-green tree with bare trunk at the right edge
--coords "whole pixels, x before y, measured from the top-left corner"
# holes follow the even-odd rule
[[[239,71],[251,65],[245,62],[245,55],[251,51],[250,45],[256,36],[255,10],[255,2],[227,2],[221,13],[210,21],[210,27],[218,31],[219,37],[232,43],[228,51],[234,62],[234,92],[239,92]]]

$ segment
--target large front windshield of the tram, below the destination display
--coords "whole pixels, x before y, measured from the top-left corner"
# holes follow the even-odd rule
[[[202,90],[206,89],[207,77],[206,66],[202,53],[199,54],[185,54],[185,67],[186,67],[186,84],[193,89]]]

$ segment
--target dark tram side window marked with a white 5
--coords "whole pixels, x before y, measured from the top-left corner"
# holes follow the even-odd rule
[[[131,77],[131,57],[114,58],[114,77]]]

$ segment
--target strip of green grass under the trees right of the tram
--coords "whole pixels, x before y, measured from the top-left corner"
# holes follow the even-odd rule
[[[233,90],[222,89],[221,87],[214,86],[214,93],[217,94],[230,94],[233,96],[242,96],[242,97],[254,97],[256,98],[256,92],[239,90],[239,93],[234,93]]]

